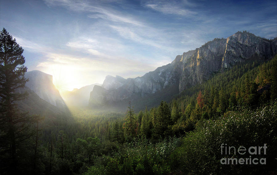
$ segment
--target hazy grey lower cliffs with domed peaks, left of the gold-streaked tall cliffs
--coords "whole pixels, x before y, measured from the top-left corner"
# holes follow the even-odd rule
[[[179,56],[179,60],[181,56]],[[179,84],[181,64],[167,64],[148,72],[142,77],[123,79],[106,76],[102,86],[95,86],[90,93],[90,106],[113,103],[128,99],[132,95],[145,97],[173,84]]]

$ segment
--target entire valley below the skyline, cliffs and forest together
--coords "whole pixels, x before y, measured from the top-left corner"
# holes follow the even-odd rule
[[[24,86],[1,91],[1,172],[276,173],[276,53],[276,38],[237,32],[184,52],[144,76],[108,75],[102,84],[62,93],[51,75],[22,69],[14,82]],[[13,70],[6,65],[1,80],[12,84],[6,78],[12,73],[4,70]],[[10,156],[10,140],[17,158]],[[226,157],[220,150],[225,143],[234,148],[265,145],[267,150]],[[250,156],[253,162],[263,160],[261,165],[226,163]]]

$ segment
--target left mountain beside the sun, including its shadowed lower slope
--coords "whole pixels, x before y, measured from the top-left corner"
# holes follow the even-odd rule
[[[34,70],[26,72],[25,78],[29,81],[24,88],[19,88],[17,91],[27,92],[28,95],[26,99],[16,102],[19,110],[29,112],[30,115],[45,117],[44,121],[49,125],[70,118],[70,111],[55,88],[51,75]]]

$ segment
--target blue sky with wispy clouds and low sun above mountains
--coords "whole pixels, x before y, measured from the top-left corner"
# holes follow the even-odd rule
[[[0,29],[59,90],[143,76],[214,38],[277,35],[277,1],[0,0]]]

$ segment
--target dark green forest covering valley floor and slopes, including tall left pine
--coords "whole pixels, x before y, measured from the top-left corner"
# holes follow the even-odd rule
[[[23,49],[1,32],[1,174],[276,174],[277,55],[236,64],[155,107],[69,106],[47,118],[19,111]],[[222,144],[264,146],[222,154]],[[264,160],[222,164],[222,158]],[[250,160],[250,159],[249,159]],[[250,161],[249,161],[250,162]],[[261,163],[262,162],[262,163]]]

